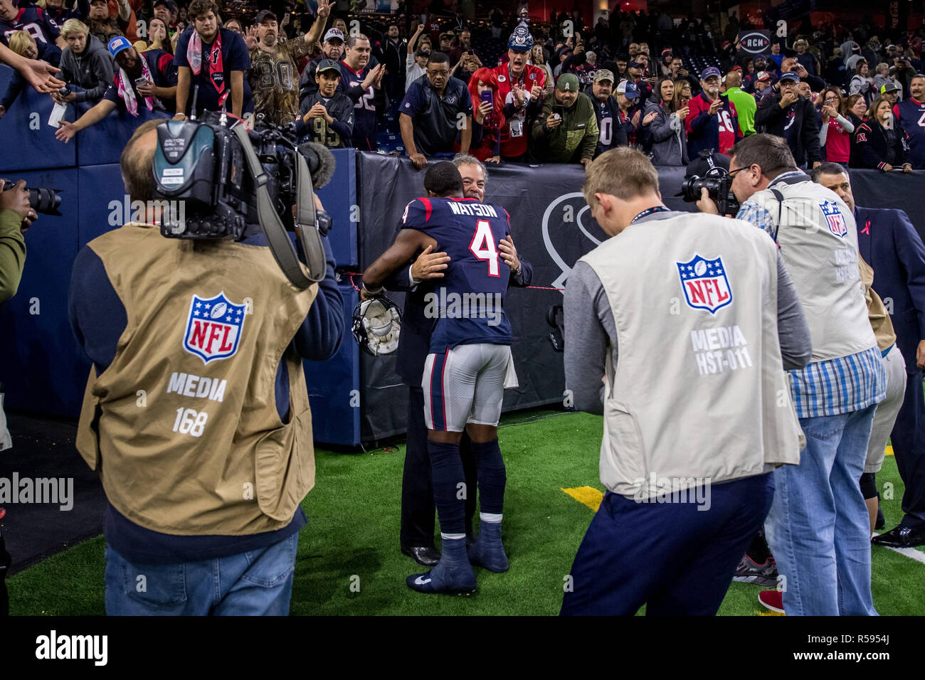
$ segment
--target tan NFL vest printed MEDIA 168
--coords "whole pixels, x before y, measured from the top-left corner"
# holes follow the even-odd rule
[[[151,225],[90,247],[128,317],[80,411],[78,450],[106,497],[166,534],[288,525],[314,486],[314,448],[302,360],[287,348],[317,286],[293,287],[268,248],[166,239]],[[284,352],[285,425],[275,399]]]

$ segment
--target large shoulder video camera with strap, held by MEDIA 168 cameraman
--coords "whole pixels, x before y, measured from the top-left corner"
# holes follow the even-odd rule
[[[326,271],[320,238],[327,235],[331,219],[314,209],[314,189],[327,184],[334,166],[327,147],[298,143],[294,123],[259,122],[255,130],[246,130],[225,112],[207,112],[201,120],[167,120],[157,126],[152,163],[154,197],[165,208],[161,234],[240,241],[249,226],[259,225],[287,277],[307,287],[305,280],[319,281]],[[180,210],[166,209],[178,204]],[[300,278],[286,231],[299,234],[308,278]]]

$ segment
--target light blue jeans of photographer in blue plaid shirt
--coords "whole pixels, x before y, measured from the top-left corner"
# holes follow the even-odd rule
[[[876,405],[800,418],[799,465],[774,471],[765,533],[783,576],[787,615],[876,615],[870,596],[870,518],[858,480]]]

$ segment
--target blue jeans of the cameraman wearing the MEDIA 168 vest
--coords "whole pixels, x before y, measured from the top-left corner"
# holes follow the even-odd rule
[[[179,564],[133,564],[106,546],[109,616],[289,614],[299,534],[262,550]]]

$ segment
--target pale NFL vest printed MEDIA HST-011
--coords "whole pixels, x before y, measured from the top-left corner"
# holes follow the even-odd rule
[[[799,463],[767,234],[720,216],[650,219],[581,261],[600,278],[617,331],[604,486],[642,500]]]

